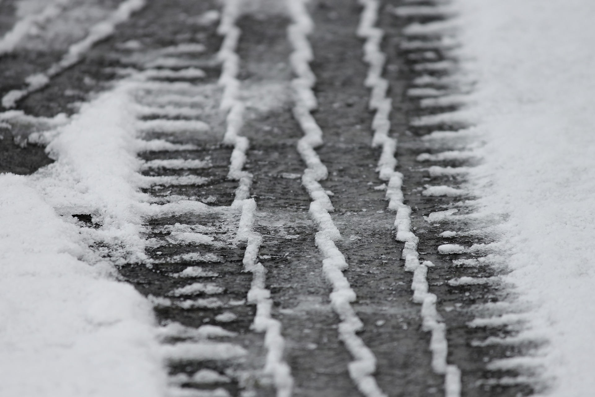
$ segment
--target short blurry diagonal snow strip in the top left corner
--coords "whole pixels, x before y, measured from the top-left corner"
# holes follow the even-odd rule
[[[55,0],[46,5],[43,10],[37,12],[37,14],[26,15],[26,17],[17,21],[12,29],[5,33],[0,39],[0,57],[14,51],[21,39],[29,35],[34,27],[42,26],[60,15],[70,2],[71,0]]]

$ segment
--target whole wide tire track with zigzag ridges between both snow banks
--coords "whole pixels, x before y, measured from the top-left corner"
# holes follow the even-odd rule
[[[367,80],[375,114],[367,115],[362,100],[368,96],[362,85],[366,71],[359,62],[361,43],[353,35],[360,9],[355,2],[312,4],[317,25],[310,36],[317,54],[311,62],[314,72],[308,57],[292,55],[298,76],[293,88],[301,98],[293,112],[302,127],[315,132],[300,137],[300,126],[287,105],[290,71],[285,58],[291,49],[279,38],[288,21],[278,10],[267,10],[264,16],[242,15],[233,8],[240,4],[230,1],[222,12],[224,42],[218,60],[214,55],[220,39],[214,26],[198,22],[207,14],[212,19],[214,5],[179,1],[166,7],[186,10],[187,19],[200,27],[184,36],[183,31],[190,30],[186,25],[182,29],[164,23],[162,29],[175,34],[167,30],[164,38],[152,33],[148,39],[147,21],[170,12],[171,22],[171,15],[179,13],[148,4],[142,17],[89,48],[89,60],[61,72],[47,90],[17,104],[48,108],[39,102],[60,97],[52,90],[70,85],[84,71],[103,74],[106,81],[128,76],[135,128],[143,139],[137,142],[144,162],[135,183],[152,205],[145,207],[146,260],[122,265],[120,271],[155,303],[159,337],[169,357],[170,394],[289,396],[292,379],[283,358],[286,348],[296,379],[295,395],[359,395],[346,373],[352,360],[347,346],[352,354],[363,352],[359,361],[349,364],[349,371],[365,395],[382,395],[380,389],[390,395],[435,395],[442,392],[444,382],[431,370],[428,346],[440,373],[446,365],[446,340],[440,335],[445,323],[449,324],[447,358],[463,371],[464,395],[533,393],[536,362],[531,354],[540,343],[521,335],[527,308],[499,285],[497,276],[505,265],[494,254],[497,230],[480,229],[485,220],[478,219],[471,207],[456,204],[456,197],[440,196],[464,193],[466,170],[478,161],[478,152],[471,151],[477,144],[474,132],[458,130],[465,115],[459,108],[470,84],[456,74],[456,57],[450,51],[458,43],[444,33],[452,32],[450,20],[443,19],[452,10],[436,10],[432,2],[416,3],[417,8],[409,4],[390,12],[399,15],[396,26],[389,12],[378,15],[378,26],[389,40],[386,79],[396,111],[389,114],[382,62],[369,57]],[[292,2],[290,7],[304,11],[303,4]],[[380,37],[372,11],[380,8],[373,0],[362,4],[367,6],[362,14],[368,39],[364,49],[374,54]],[[296,26],[295,19],[293,23]],[[242,40],[238,27],[246,32]],[[260,42],[262,36],[274,46]],[[305,35],[293,40],[308,48]],[[98,54],[109,56],[98,61]],[[13,130],[29,123],[19,120],[11,119]],[[36,123],[48,120],[37,118]],[[400,132],[397,148],[389,133],[384,134],[389,120]],[[369,147],[361,127],[367,123],[381,148]],[[315,130],[317,126],[320,130]],[[314,151],[321,130],[325,145]],[[426,135],[417,137],[406,130]],[[405,185],[394,171],[395,150]],[[308,165],[303,175],[300,155]],[[378,157],[377,176],[373,164]],[[426,164],[431,166],[420,168]],[[318,179],[323,174],[325,179]],[[307,194],[299,186],[300,177]],[[369,186],[362,180],[370,181]],[[405,265],[414,270],[413,276],[394,265],[399,252],[391,236],[393,224],[383,212],[383,189],[392,197],[389,208],[397,210],[397,237],[406,240]],[[316,203],[314,210],[311,202]],[[306,215],[309,208],[318,216],[315,223]],[[101,229],[93,213],[64,211]],[[405,215],[410,217],[409,226]],[[333,241],[339,230],[344,238]],[[408,230],[416,230],[417,251],[415,239],[407,238]],[[117,244],[102,242],[95,248],[107,257],[113,254],[114,261],[123,258],[117,256],[123,250]],[[431,261],[434,267],[415,265],[411,258],[417,253],[419,260]],[[337,264],[347,263],[349,268],[341,274]],[[323,276],[334,280],[331,305]],[[337,288],[339,282],[343,284]],[[425,321],[419,318],[419,307],[410,302],[409,285],[414,300],[424,301]],[[440,297],[437,302],[432,302],[428,288]],[[353,293],[358,299],[347,308]],[[344,345],[337,339],[337,312],[343,317],[347,313],[349,320],[341,318],[339,327]],[[437,321],[439,316],[444,321]],[[430,339],[419,332],[424,326],[437,336]],[[250,328],[264,332],[264,339]],[[491,360],[487,364],[486,358]],[[357,364],[365,368],[358,370]],[[374,369],[372,380],[378,385],[371,380]],[[452,382],[447,381],[446,395],[456,395],[449,385]]]

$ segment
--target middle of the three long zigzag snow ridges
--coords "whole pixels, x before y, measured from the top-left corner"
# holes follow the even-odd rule
[[[315,242],[324,256],[322,270],[333,285],[330,300],[333,310],[341,319],[339,339],[345,343],[354,359],[348,365],[349,376],[365,396],[386,397],[372,376],[376,370],[376,358],[364,341],[356,335],[362,329],[363,323],[350,304],[355,301],[356,295],[342,273],[342,270],[347,268],[345,257],[334,243],[341,239],[341,235],[328,214],[328,211],[333,211],[333,205],[318,183],[327,177],[327,168],[314,150],[322,144],[322,130],[310,114],[310,111],[317,107],[317,101],[312,91],[316,78],[309,66],[314,55],[307,37],[314,23],[306,10],[306,1],[287,1],[293,21],[287,29],[289,41],[293,46],[290,63],[296,74],[296,78],[292,81],[295,90],[293,115],[304,132],[304,136],[297,143],[297,151],[307,166],[302,176],[302,184],[312,199],[309,212],[318,224],[319,231],[316,233]]]

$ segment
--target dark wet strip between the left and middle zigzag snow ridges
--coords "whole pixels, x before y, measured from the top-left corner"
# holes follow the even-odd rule
[[[294,395],[356,396],[347,373],[349,352],[337,337],[339,320],[327,303],[328,285],[307,212],[310,198],[300,186],[303,162],[296,144],[302,132],[291,112],[292,48],[281,5],[239,21],[246,37],[239,48],[246,60],[240,70],[247,95],[243,130],[251,142],[248,167],[259,203],[256,229],[264,236],[261,259],[275,302],[274,317],[283,323]]]

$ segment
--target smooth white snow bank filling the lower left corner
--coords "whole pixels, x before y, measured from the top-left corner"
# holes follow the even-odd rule
[[[32,184],[0,176],[0,395],[163,395],[151,305],[77,259],[79,227]]]

